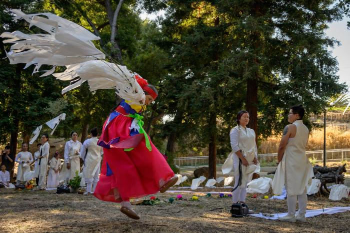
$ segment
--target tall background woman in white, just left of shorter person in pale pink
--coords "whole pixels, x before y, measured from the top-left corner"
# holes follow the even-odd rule
[[[39,149],[39,157],[36,169],[34,171],[34,177],[38,178],[38,190],[46,189],[46,175],[47,175],[47,163],[50,145],[48,144],[48,134],[44,133],[41,136],[41,146]]]

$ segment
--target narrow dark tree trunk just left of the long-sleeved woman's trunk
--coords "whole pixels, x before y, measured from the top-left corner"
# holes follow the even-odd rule
[[[216,112],[211,112],[209,115],[209,174],[208,179],[216,179]]]

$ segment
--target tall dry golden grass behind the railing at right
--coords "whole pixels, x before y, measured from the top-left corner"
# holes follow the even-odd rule
[[[350,132],[343,131],[337,126],[326,127],[326,148],[342,149],[350,148]],[[269,137],[262,141],[259,145],[259,154],[276,153],[280,141],[280,137]],[[323,129],[315,129],[311,131],[306,151],[316,151],[323,149]]]

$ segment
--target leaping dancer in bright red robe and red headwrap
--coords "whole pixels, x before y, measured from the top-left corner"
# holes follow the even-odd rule
[[[154,86],[136,78],[145,93],[145,105],[157,96]],[[140,198],[174,185],[177,177],[163,155],[143,131],[144,105],[129,105],[126,100],[110,113],[104,122],[98,145],[103,147],[103,162],[93,195],[108,202],[121,202],[120,211],[133,219],[139,216],[131,209],[130,198]]]

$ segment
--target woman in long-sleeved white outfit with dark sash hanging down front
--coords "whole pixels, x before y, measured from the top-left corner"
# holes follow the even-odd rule
[[[237,126],[233,127],[229,133],[233,152],[230,154],[233,159],[234,175],[233,204],[245,202],[247,183],[251,181],[254,172],[259,172],[255,132],[246,127],[248,122],[249,113],[245,110],[239,111],[236,117]]]

